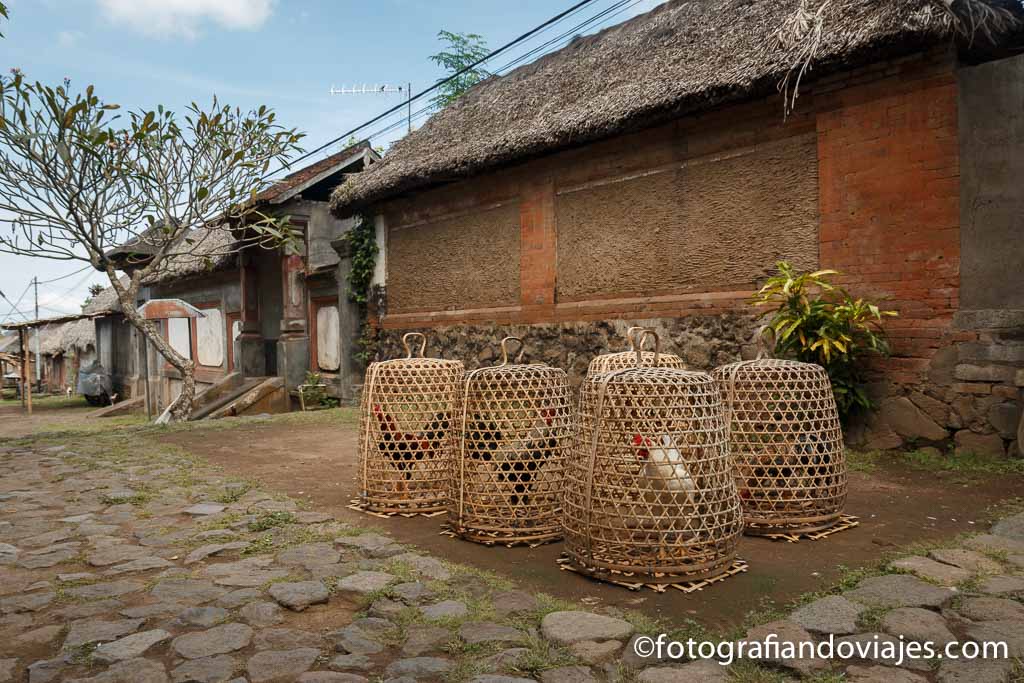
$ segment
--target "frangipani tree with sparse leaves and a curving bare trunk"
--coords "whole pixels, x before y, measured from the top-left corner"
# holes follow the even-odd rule
[[[122,114],[92,86],[70,86],[30,83],[17,71],[0,77],[0,251],[106,273],[125,317],[181,374],[167,414],[187,420],[195,366],[141,315],[139,288],[199,254],[294,248],[287,218],[260,213],[257,200],[302,135],[264,106],[244,112],[214,98],[180,118],[163,106]]]

